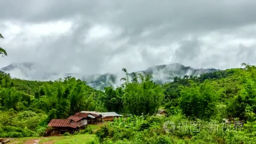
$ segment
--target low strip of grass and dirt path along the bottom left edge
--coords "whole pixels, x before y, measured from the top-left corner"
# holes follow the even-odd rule
[[[79,134],[74,136],[49,136],[49,137],[27,137],[20,139],[13,139],[10,144],[84,144],[93,140],[93,134]],[[38,141],[36,143],[36,141]]]

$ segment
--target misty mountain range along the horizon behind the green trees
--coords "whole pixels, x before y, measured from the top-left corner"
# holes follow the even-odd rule
[[[28,80],[57,80],[58,78],[75,76],[87,82],[92,88],[103,90],[104,87],[113,85],[119,86],[121,76],[106,73],[106,74],[93,74],[85,75],[81,73],[60,73],[50,72],[46,70],[38,70],[40,65],[34,63],[14,63],[7,67],[3,67],[0,70],[10,73],[12,77],[28,79]],[[136,72],[143,75],[152,75],[155,83],[164,84],[173,81],[174,77],[184,77],[185,75],[201,75],[208,72],[214,72],[218,69],[195,69],[192,67],[186,67],[182,64],[167,64],[149,67],[145,70]]]

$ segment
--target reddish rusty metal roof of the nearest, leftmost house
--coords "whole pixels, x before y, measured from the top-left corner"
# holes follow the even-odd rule
[[[71,122],[71,119],[52,119],[47,126],[77,128],[78,125],[79,123],[77,122]]]

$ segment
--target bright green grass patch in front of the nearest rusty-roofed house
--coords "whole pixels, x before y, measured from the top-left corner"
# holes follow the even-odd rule
[[[50,136],[39,141],[40,144],[52,141],[54,144],[85,144],[96,136],[93,134],[79,134],[74,136]]]

